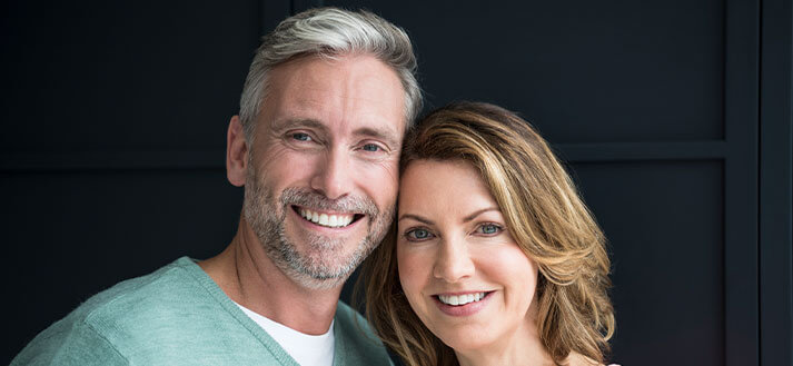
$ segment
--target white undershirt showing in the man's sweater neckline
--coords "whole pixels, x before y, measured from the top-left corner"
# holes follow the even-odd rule
[[[235,303],[237,304],[237,303]],[[331,366],[334,363],[334,323],[325,334],[313,336],[272,322],[237,304],[242,313],[258,324],[300,366]]]

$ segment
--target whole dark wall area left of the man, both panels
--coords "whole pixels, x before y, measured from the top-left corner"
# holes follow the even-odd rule
[[[0,364],[92,294],[231,239],[225,132],[260,8],[2,3]]]

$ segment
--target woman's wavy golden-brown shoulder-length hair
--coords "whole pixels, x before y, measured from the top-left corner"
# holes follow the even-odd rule
[[[615,327],[605,239],[547,142],[515,113],[475,102],[432,112],[405,141],[400,171],[414,160],[463,160],[478,170],[509,234],[538,266],[537,328],[554,362],[577,353],[603,363]],[[395,250],[391,228],[364,263],[356,290],[365,290],[367,318],[406,364],[458,365],[410,308]]]

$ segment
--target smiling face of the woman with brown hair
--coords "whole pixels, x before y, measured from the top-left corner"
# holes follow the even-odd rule
[[[399,280],[429,330],[457,352],[536,332],[529,306],[537,266],[473,166],[412,162],[398,207]]]

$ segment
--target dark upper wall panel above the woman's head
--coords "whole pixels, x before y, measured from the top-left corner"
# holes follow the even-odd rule
[[[485,100],[557,144],[721,139],[718,1],[324,1],[415,40],[430,107]]]

